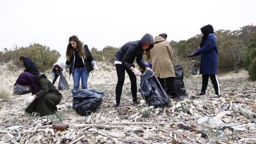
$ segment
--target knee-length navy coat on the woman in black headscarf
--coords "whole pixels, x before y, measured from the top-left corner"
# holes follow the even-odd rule
[[[198,48],[193,56],[201,55],[200,73],[203,75],[217,74],[218,71],[218,49],[216,37],[210,33],[203,47]]]

